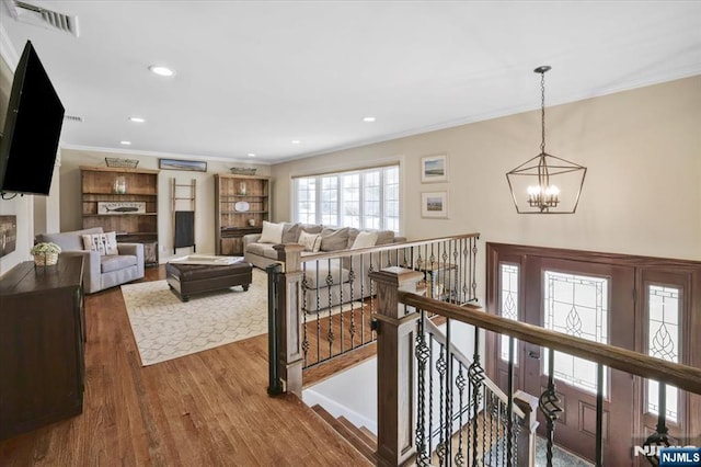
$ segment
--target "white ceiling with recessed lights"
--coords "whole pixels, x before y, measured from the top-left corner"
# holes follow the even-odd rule
[[[701,1],[26,1],[79,18],[0,10],[72,148],[272,163],[537,109],[540,65],[548,105],[701,73]]]

